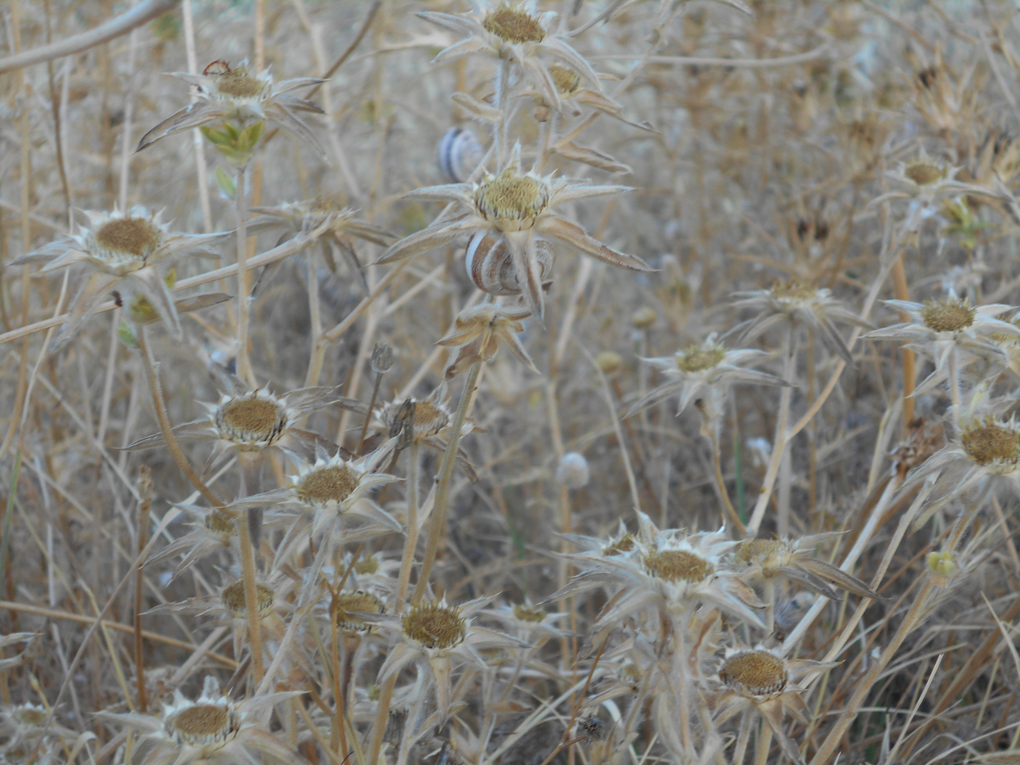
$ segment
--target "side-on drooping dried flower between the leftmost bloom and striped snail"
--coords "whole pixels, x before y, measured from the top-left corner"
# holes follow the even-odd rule
[[[284,227],[290,230],[292,236],[297,236],[314,233],[325,224],[324,233],[319,238],[322,259],[329,270],[336,273],[335,254],[340,252],[366,295],[369,292],[368,284],[365,282],[361,260],[354,249],[354,239],[362,239],[380,247],[386,247],[396,239],[395,235],[386,230],[355,217],[355,211],[335,195],[320,195],[278,207],[253,207],[252,212],[261,214],[248,221],[249,234]],[[289,238],[288,235],[285,238]]]

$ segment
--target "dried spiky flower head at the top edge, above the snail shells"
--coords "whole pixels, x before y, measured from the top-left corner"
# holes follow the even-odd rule
[[[596,93],[599,75],[570,45],[569,38],[553,32],[556,13],[539,12],[534,0],[507,2],[477,0],[468,13],[423,12],[418,16],[464,38],[440,51],[436,61],[451,61],[474,53],[511,61],[549,103],[561,108],[560,91],[546,57],[559,59],[577,72]]]

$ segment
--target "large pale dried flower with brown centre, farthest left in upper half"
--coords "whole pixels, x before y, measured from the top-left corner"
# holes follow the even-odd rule
[[[69,287],[73,297],[67,318],[53,339],[51,350],[70,340],[82,324],[114,291],[130,304],[144,297],[174,338],[181,338],[181,321],[173,298],[157,265],[185,252],[211,254],[210,246],[226,234],[182,234],[170,232],[160,219],[141,205],[128,212],[86,211],[88,225],[79,233],[51,242],[8,265],[45,263],[39,275],[68,266],[83,265],[83,273]]]

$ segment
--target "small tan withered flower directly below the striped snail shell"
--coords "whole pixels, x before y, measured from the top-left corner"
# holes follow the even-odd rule
[[[522,320],[530,315],[530,309],[488,302],[461,311],[453,330],[436,343],[458,348],[457,357],[447,367],[446,378],[456,377],[472,364],[491,361],[500,348],[508,349],[528,369],[538,372],[517,337],[524,329]]]

